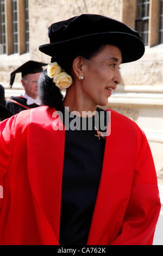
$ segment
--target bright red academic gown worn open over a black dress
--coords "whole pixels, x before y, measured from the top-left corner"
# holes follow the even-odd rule
[[[22,111],[0,125],[1,245],[59,245],[65,131],[54,131],[54,110]],[[111,111],[87,245],[152,245],[159,212],[147,139]]]

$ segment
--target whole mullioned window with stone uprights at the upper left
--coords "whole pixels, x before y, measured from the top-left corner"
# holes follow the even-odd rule
[[[29,52],[28,0],[0,0],[0,44],[3,52]]]

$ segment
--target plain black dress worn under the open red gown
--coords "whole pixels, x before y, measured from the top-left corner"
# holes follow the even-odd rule
[[[64,106],[57,110],[63,114],[66,130],[59,242],[60,245],[86,245],[101,179],[105,138],[97,137],[96,115],[76,118],[80,127],[85,122],[87,127],[86,130],[72,130],[74,117],[65,124]],[[103,112],[106,123],[106,111],[97,108],[97,112]],[[88,123],[92,123],[92,129]]]

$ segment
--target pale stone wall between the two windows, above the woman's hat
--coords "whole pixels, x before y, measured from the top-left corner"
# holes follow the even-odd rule
[[[121,5],[122,0],[30,0],[30,57],[49,61],[49,57],[40,53],[38,47],[49,42],[48,27],[52,23],[84,13],[101,14],[120,20]]]

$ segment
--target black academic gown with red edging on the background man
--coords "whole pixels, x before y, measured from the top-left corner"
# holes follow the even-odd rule
[[[13,114],[17,114],[22,110],[26,110],[34,107],[40,107],[40,106],[36,105],[35,103],[31,105],[27,105],[27,99],[24,98],[23,96],[17,96],[17,97],[12,96],[8,100],[6,100],[6,107],[10,109],[10,111]]]

